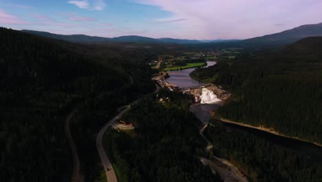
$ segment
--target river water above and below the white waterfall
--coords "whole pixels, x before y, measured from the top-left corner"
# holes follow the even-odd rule
[[[207,61],[207,66],[215,65],[215,61]],[[171,71],[169,72],[169,78],[167,79],[168,83],[173,85],[178,85],[179,88],[189,88],[200,85],[205,85],[205,83],[201,83],[199,81],[195,81],[189,74],[193,72],[195,68],[186,69],[182,71]],[[213,104],[194,104],[192,105],[191,111],[195,114],[195,116],[200,119],[200,121],[204,123],[208,123],[210,119],[210,112],[215,110],[220,105],[219,103]],[[233,125],[225,123],[229,130],[239,130],[241,132],[248,132],[254,134],[256,137],[266,139],[272,143],[282,146],[283,148],[288,148],[293,152],[297,152],[298,154],[303,154],[308,161],[318,161],[322,162],[322,148],[314,145],[312,143],[308,143],[305,141],[299,141],[296,139],[290,139],[283,136],[277,136],[275,134],[270,134],[268,132],[255,130],[252,128],[246,128],[239,125]]]

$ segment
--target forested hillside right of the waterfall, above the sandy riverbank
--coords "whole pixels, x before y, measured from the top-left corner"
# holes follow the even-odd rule
[[[233,92],[221,117],[322,143],[322,37],[191,74]],[[231,64],[231,65],[230,65]]]

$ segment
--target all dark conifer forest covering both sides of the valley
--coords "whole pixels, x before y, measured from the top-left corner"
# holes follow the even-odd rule
[[[70,128],[84,181],[103,172],[96,134],[122,105],[135,130],[107,130],[105,148],[120,181],[222,181],[197,156],[206,141],[187,94],[155,90],[149,63],[178,56],[182,45],[79,44],[0,28],[0,181],[70,181]],[[322,143],[322,38],[245,53],[197,68],[191,77],[232,92],[216,117],[264,125]],[[195,61],[195,60],[193,60]],[[182,63],[178,63],[182,64]],[[265,139],[228,130],[217,120],[205,131],[213,153],[250,181],[321,181],[321,161]],[[105,176],[102,177],[105,179]]]

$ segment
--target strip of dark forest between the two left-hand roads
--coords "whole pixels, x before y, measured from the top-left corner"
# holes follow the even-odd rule
[[[109,92],[102,92],[78,106],[71,128],[82,162],[81,172],[86,181],[95,181],[103,171],[96,149],[98,130],[118,113],[117,108],[155,89],[154,83],[150,80],[149,69],[146,68],[148,67],[136,70],[135,75],[140,79],[133,77],[133,83]]]

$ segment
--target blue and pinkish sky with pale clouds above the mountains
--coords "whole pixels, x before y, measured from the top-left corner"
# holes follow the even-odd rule
[[[322,0],[0,0],[0,26],[100,37],[247,39],[322,22]]]

